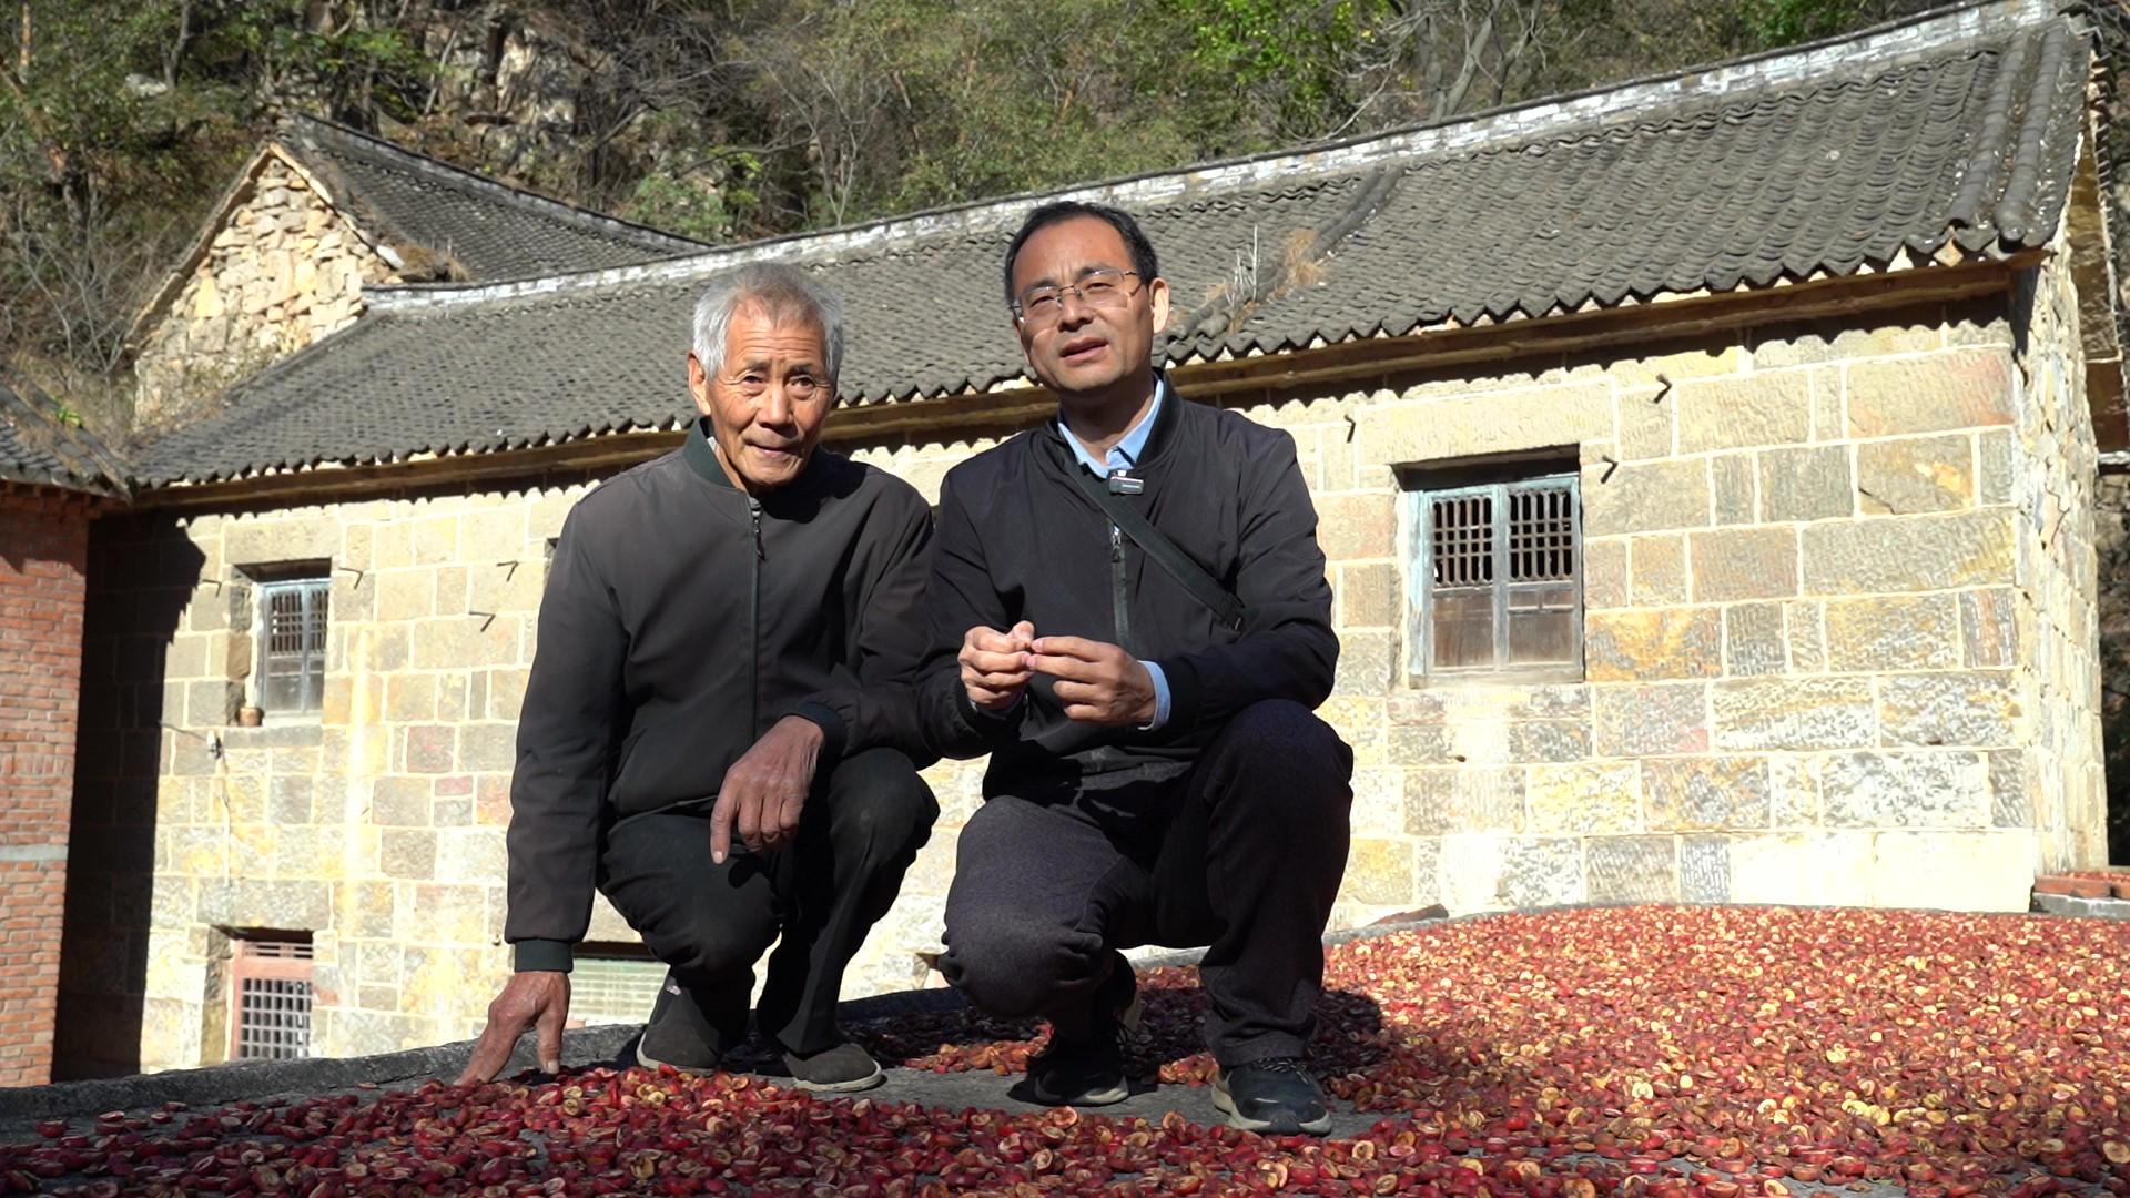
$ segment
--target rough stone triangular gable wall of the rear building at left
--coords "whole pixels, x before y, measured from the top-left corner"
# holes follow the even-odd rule
[[[362,284],[394,269],[268,147],[177,296],[153,313],[134,356],[134,420],[170,426],[230,384],[362,313]]]

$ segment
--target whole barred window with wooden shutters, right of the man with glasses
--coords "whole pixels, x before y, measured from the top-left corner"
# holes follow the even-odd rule
[[[1414,678],[1580,676],[1583,512],[1574,473],[1416,488]]]

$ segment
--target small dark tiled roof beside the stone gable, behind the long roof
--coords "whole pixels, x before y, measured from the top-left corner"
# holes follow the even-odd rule
[[[373,239],[456,258],[471,279],[530,279],[697,254],[701,241],[520,192],[390,141],[294,117],[281,132]]]

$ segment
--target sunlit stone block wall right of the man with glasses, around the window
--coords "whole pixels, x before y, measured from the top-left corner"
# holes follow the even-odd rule
[[[2028,665],[2068,637],[2021,595],[2034,463],[2013,343],[1987,301],[1269,411],[1316,469],[1340,595],[1327,714],[1361,761],[1340,919],[1425,902],[2024,908],[2055,804],[2034,772],[2053,757],[2085,778],[2096,750],[2032,740],[2081,699]],[[1580,473],[1583,676],[1408,678],[1423,580],[1399,480],[1544,452]],[[2075,633],[2081,582],[2060,578]],[[2081,787],[2090,804],[2098,782]]]

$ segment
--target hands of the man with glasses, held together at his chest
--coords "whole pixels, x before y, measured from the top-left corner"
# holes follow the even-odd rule
[[[1020,620],[1007,631],[976,627],[961,642],[961,684],[980,710],[1003,714],[1037,674],[1056,678],[1052,691],[1065,718],[1112,727],[1154,721],[1154,678],[1123,646],[1086,637],[1037,637]]]

